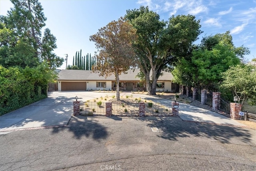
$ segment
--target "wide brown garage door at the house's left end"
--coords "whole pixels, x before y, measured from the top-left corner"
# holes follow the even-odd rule
[[[61,91],[85,91],[86,82],[61,82]]]

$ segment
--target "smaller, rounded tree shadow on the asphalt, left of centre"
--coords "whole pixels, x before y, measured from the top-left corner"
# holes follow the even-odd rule
[[[72,132],[76,139],[80,139],[82,136],[92,137],[94,140],[106,139],[108,137],[106,127],[80,115],[72,116],[66,127],[56,127],[52,133],[55,134],[66,129]]]

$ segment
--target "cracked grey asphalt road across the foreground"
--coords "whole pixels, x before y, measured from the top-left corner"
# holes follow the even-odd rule
[[[1,171],[256,170],[256,131],[179,117],[78,116],[66,127],[0,135],[0,151]]]

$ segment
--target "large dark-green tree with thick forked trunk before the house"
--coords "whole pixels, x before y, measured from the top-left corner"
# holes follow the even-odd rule
[[[125,18],[137,30],[138,40],[133,44],[137,64],[145,76],[148,94],[154,95],[162,70],[172,67],[181,56],[186,56],[202,33],[200,20],[192,15],[178,15],[163,21],[156,12],[144,6],[127,10]]]

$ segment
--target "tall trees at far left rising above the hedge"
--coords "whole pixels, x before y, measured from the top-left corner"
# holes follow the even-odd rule
[[[56,69],[64,62],[53,50],[56,38],[42,28],[46,17],[38,0],[11,0],[14,7],[7,16],[0,16],[0,65],[4,67],[34,67],[46,61],[49,68]]]

